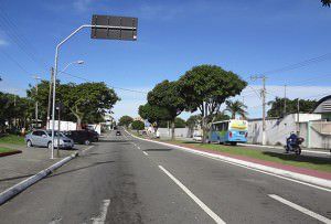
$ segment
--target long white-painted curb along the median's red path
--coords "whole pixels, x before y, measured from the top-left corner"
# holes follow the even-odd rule
[[[306,175],[306,174],[301,174],[301,173],[296,173],[296,172],[291,172],[291,171],[287,171],[287,170],[281,170],[281,169],[278,169],[278,168],[271,168],[271,167],[267,167],[267,166],[263,166],[263,164],[257,164],[257,163],[254,163],[254,162],[248,162],[248,161],[234,159],[234,158],[231,158],[231,157],[225,157],[225,156],[215,154],[215,153],[211,153],[211,152],[200,151],[200,150],[195,150],[195,149],[191,149],[191,148],[186,148],[186,147],[175,146],[175,145],[172,145],[172,143],[166,143],[166,142],[154,141],[154,140],[150,140],[150,139],[143,139],[143,138],[139,138],[137,136],[131,135],[127,130],[126,130],[126,132],[129,134],[130,136],[132,136],[136,139],[140,139],[140,140],[143,140],[143,141],[149,141],[149,142],[154,142],[154,143],[159,143],[159,145],[163,145],[163,146],[168,146],[168,147],[172,147],[172,148],[177,148],[177,149],[180,149],[180,150],[189,151],[191,153],[195,153],[195,154],[217,159],[217,160],[231,163],[231,164],[235,164],[235,166],[239,166],[239,167],[243,167],[243,168],[248,168],[248,169],[252,169],[252,170],[260,171],[260,172],[264,172],[264,173],[267,173],[267,174],[270,173],[270,174],[274,174],[274,175],[277,175],[277,177],[284,177],[284,179],[291,179],[291,180],[295,180],[297,182],[301,182],[303,184],[306,183],[306,185],[314,186],[314,188],[331,192],[331,181],[330,180],[316,178],[316,177],[311,177],[311,175]]]

